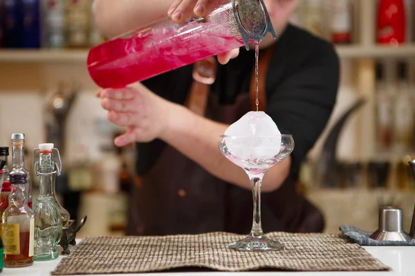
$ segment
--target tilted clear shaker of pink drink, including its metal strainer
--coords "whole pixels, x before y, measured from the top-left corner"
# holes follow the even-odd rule
[[[89,51],[89,75],[102,88],[122,88],[222,52],[261,41],[273,25],[263,0],[218,0],[206,17],[169,17]]]

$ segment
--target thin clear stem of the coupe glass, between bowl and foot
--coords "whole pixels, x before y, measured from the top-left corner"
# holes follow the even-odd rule
[[[259,175],[252,175],[248,173],[252,188],[252,198],[254,200],[254,216],[252,219],[252,230],[250,235],[252,237],[259,237],[264,235],[261,225],[261,183],[264,173]]]

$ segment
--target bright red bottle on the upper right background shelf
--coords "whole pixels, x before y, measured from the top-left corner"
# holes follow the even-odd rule
[[[377,41],[380,44],[405,43],[406,15],[403,0],[380,0],[378,6]]]

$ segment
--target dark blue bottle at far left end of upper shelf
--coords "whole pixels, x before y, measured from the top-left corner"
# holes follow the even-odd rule
[[[3,39],[6,48],[21,48],[23,20],[19,0],[3,0]]]

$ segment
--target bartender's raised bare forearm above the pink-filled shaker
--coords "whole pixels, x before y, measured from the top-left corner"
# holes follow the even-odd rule
[[[173,0],[94,0],[95,24],[106,37],[115,37],[129,30],[167,17]]]

